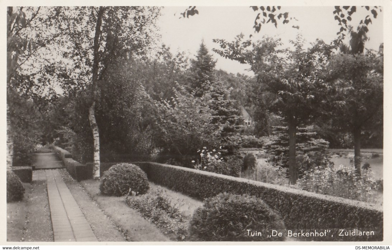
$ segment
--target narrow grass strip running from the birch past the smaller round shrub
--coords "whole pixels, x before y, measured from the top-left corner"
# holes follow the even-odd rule
[[[124,197],[105,196],[100,194],[97,180],[85,180],[80,184],[89,196],[111,217],[127,235],[129,241],[169,241],[156,226],[144,219],[137,211],[129,208]]]

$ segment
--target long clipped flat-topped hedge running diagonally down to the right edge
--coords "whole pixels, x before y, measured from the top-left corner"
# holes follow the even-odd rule
[[[297,237],[304,241],[382,241],[383,210],[375,205],[310,193],[289,187],[160,163],[134,163],[150,181],[202,200],[222,192],[260,197],[279,212],[288,230],[325,232],[323,237]],[[352,230],[373,231],[370,236]],[[256,230],[256,228],[255,228]],[[330,231],[328,231],[330,230]],[[345,231],[339,231],[345,230]],[[350,230],[350,236],[344,236]],[[288,231],[289,232],[289,231]],[[358,231],[354,231],[358,234]],[[338,236],[342,233],[343,236]],[[370,234],[372,234],[370,232]],[[300,234],[301,235],[301,234]],[[310,234],[311,235],[311,234]],[[292,236],[294,237],[294,236]]]

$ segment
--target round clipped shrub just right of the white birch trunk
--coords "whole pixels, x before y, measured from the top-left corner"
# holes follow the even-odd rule
[[[149,189],[147,174],[130,163],[119,163],[105,171],[101,178],[100,191],[109,196],[123,196],[129,192],[145,194]]]

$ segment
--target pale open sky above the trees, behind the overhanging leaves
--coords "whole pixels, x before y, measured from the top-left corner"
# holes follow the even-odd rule
[[[263,36],[272,36],[281,38],[284,44],[288,44],[290,39],[294,40],[300,33],[307,42],[314,42],[317,38],[330,42],[336,38],[336,33],[340,28],[332,13],[334,6],[282,6],[281,11],[289,12],[289,17],[295,17],[298,21],[291,20],[289,24],[285,25],[280,21],[277,28],[269,23],[263,25],[259,33],[255,33],[252,28],[257,13],[249,5],[238,7],[197,6],[198,15],[179,19],[180,13],[186,8],[187,6],[163,8],[162,16],[158,20],[159,33],[162,35],[161,41],[171,47],[173,54],[177,51],[184,51],[194,57],[203,40],[214,58],[218,59],[216,68],[234,74],[252,75],[252,72],[246,71],[249,69],[248,65],[241,65],[212,52],[213,48],[218,48],[212,39],[232,41],[235,36],[243,33],[246,39],[250,34],[252,34],[252,40],[261,40]],[[365,9],[359,8],[352,16],[352,25],[358,26],[359,20],[365,15]],[[299,29],[292,28],[292,25],[298,25]],[[383,42],[383,12],[379,12],[376,19],[372,18],[368,37],[370,40],[365,44],[365,47],[378,50],[380,43]]]

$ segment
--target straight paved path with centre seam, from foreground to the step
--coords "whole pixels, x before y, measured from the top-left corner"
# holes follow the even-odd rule
[[[98,241],[60,172],[48,169],[45,174],[54,241]]]

